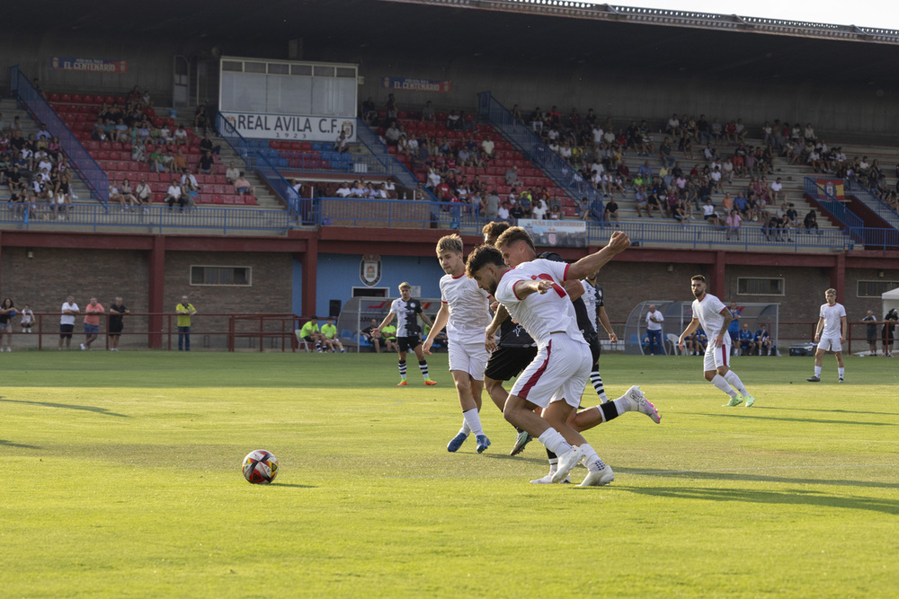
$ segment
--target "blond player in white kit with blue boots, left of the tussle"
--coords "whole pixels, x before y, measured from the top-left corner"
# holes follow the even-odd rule
[[[458,403],[462,408],[462,428],[447,445],[455,452],[472,433],[480,454],[490,445],[481,427],[481,391],[484,389],[484,368],[487,348],[482,340],[490,324],[489,295],[474,279],[465,276],[462,257],[462,238],[453,233],[437,242],[437,259],[446,273],[441,277],[441,309],[434,318],[434,326],[424,339],[424,353],[431,354],[431,346],[438,333],[446,327],[449,340],[449,374],[456,383]]]

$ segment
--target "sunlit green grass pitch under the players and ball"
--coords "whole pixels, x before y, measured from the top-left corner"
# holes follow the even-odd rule
[[[458,454],[446,355],[22,352],[0,390],[3,597],[882,597],[899,594],[899,375],[739,357],[601,360],[662,413],[586,433],[609,487],[530,485],[534,442],[485,398]],[[584,405],[596,402],[592,389]],[[280,461],[248,484],[245,454]],[[573,480],[583,478],[583,469]]]

